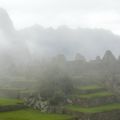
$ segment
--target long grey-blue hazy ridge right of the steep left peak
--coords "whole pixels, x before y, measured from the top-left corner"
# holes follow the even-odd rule
[[[19,32],[28,40],[29,48],[33,48],[33,52],[38,54],[63,53],[71,57],[80,52],[87,58],[93,58],[98,54],[103,55],[108,49],[112,50],[115,55],[120,53],[120,36],[108,30],[70,29],[65,26],[45,29],[34,25]]]

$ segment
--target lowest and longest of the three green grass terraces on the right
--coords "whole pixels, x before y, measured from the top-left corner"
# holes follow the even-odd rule
[[[112,110],[120,110],[120,104],[108,104],[108,105],[102,105],[98,107],[89,107],[89,108],[83,108],[76,105],[68,105],[65,107],[68,110],[76,111],[76,112],[82,112],[82,113],[99,113],[99,112],[107,112]]]

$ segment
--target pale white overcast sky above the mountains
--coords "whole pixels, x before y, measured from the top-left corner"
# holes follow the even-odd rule
[[[120,34],[120,0],[0,0],[16,29],[34,24],[57,28],[105,28]]]

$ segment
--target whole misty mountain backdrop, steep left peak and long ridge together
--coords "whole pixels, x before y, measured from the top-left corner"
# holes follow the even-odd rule
[[[76,53],[93,58],[109,49],[119,55],[119,45],[120,36],[104,29],[71,29],[66,26],[53,29],[34,25],[16,30],[6,10],[0,8],[1,76],[25,73],[27,67],[41,57],[59,53],[68,58]]]

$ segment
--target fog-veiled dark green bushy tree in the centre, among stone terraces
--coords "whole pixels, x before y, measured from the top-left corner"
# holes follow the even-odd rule
[[[72,93],[73,84],[71,78],[58,67],[52,66],[51,71],[48,72],[48,70],[45,71],[42,78],[39,92],[41,97],[47,99],[50,104],[61,104],[64,102],[65,96]]]

